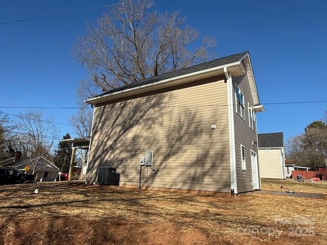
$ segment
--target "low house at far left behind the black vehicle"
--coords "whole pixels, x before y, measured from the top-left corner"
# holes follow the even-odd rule
[[[33,162],[33,163],[32,163]],[[54,181],[59,172],[59,168],[52,162],[46,160],[44,157],[35,159],[17,158],[16,156],[7,158],[0,162],[0,167],[11,167],[25,173],[25,166],[29,165],[27,174],[33,174],[33,164],[35,165],[34,175],[37,175],[37,181]]]

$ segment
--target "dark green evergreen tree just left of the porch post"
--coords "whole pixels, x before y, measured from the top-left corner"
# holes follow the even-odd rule
[[[70,139],[71,135],[67,133],[62,139]],[[71,162],[72,148],[70,143],[60,141],[58,149],[55,151],[54,162],[61,170],[61,173],[68,173],[69,163]]]

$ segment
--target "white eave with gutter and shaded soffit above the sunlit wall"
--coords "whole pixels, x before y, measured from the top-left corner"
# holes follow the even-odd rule
[[[194,77],[199,77],[197,79],[204,79],[205,75],[209,75],[209,76],[223,75],[224,67],[231,68],[233,66],[239,66],[241,64],[241,61],[242,61],[242,59],[240,59],[237,62],[230,63],[230,64],[216,66],[213,68],[204,69],[204,70],[200,70],[200,71],[195,71],[195,72],[192,72],[189,74],[184,74],[184,75],[181,75],[178,77],[168,78],[168,79],[160,80],[160,81],[157,81],[154,83],[145,84],[145,85],[137,86],[134,88],[128,88],[128,89],[124,89],[121,91],[113,92],[110,94],[100,95],[100,96],[88,99],[85,102],[88,104],[91,104],[91,105],[95,105],[95,104],[103,103],[106,101],[110,101],[111,99],[115,100],[115,99],[119,99],[120,97],[126,97],[126,96],[130,96],[130,95],[139,94],[139,93],[142,93],[142,89],[146,89],[149,87],[153,87],[153,89],[151,89],[151,90],[156,90],[156,89],[171,87],[174,85],[179,85],[179,84],[195,81],[195,80],[192,80],[192,78],[194,78]],[[176,82],[176,81],[180,81],[180,83],[174,84],[174,82]],[[159,86],[159,85],[163,85],[163,86]],[[155,88],[155,87],[157,87],[157,88]],[[136,92],[136,90],[138,90],[138,91]]]

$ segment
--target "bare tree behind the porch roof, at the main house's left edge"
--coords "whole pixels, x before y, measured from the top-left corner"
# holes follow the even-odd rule
[[[78,137],[89,137],[92,127],[92,111],[88,109],[79,109],[76,115],[71,117],[71,124],[74,126],[74,133]],[[87,160],[87,150],[77,150],[77,162],[85,165]]]

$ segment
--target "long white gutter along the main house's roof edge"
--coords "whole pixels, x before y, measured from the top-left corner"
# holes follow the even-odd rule
[[[172,82],[172,81],[180,80],[180,79],[184,79],[184,78],[189,78],[189,77],[193,77],[193,76],[197,76],[197,75],[202,75],[202,74],[205,74],[207,72],[218,71],[218,70],[221,70],[221,69],[224,69],[224,68],[227,69],[229,67],[237,66],[237,65],[241,64],[241,61],[242,60],[227,64],[227,65],[221,65],[221,66],[216,66],[216,67],[205,69],[205,70],[195,71],[195,72],[192,72],[192,73],[189,73],[189,74],[184,74],[184,75],[181,75],[181,76],[178,76],[178,77],[173,77],[173,78],[160,80],[158,82],[154,82],[154,83],[151,83],[151,84],[145,84],[145,85],[124,89],[124,90],[109,93],[109,94],[99,95],[97,97],[93,97],[91,99],[88,99],[88,100],[86,100],[84,102],[88,103],[88,104],[95,104],[94,101],[97,101],[99,99],[103,99],[105,97],[109,97],[109,96],[113,96],[113,95],[121,94],[121,93],[127,93],[127,92],[134,91],[134,90],[137,90],[137,89],[147,88],[147,87],[151,87],[151,86],[155,86],[155,85],[159,85],[159,84],[164,84],[164,83],[168,83],[168,82]]]

